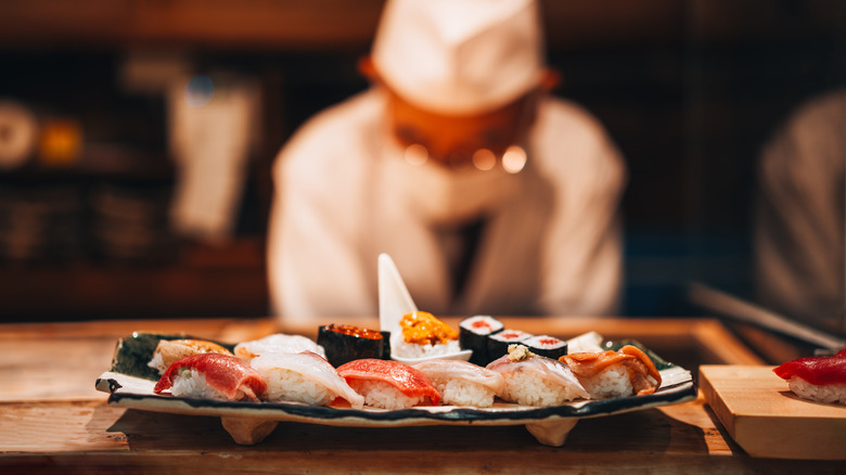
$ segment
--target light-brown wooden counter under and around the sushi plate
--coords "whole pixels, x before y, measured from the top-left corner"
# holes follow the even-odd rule
[[[588,330],[615,339],[634,337],[679,363],[678,358],[760,363],[713,320],[507,320],[529,332],[565,337]],[[270,320],[234,319],[0,326],[0,473],[177,468],[194,473],[834,473],[842,468],[841,463],[748,457],[702,397],[581,420],[561,448],[538,444],[523,426],[349,428],[299,423],[281,423],[261,444],[239,446],[216,418],[106,405],[107,396],[94,390],[94,380],[108,368],[117,338],[132,331],[184,332],[238,342],[271,333],[275,326]]]

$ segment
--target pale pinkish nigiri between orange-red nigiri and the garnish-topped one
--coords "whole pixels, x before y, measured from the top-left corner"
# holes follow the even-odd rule
[[[441,403],[489,408],[505,387],[496,371],[460,360],[426,360],[414,364],[440,394]]]

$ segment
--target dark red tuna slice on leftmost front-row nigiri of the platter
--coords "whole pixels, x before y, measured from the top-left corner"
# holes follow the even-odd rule
[[[174,380],[182,369],[194,369],[204,374],[206,383],[230,400],[234,400],[239,390],[242,390],[247,398],[258,401],[258,396],[267,389],[267,383],[261,374],[241,358],[206,352],[175,361],[158,380],[153,391],[161,394],[163,390],[170,389]]]

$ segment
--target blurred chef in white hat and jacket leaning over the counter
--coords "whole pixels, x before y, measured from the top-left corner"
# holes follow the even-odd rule
[[[377,314],[380,253],[443,316],[606,314],[621,256],[621,158],[553,99],[530,0],[390,0],[372,88],[280,152],[268,235],[286,322]]]

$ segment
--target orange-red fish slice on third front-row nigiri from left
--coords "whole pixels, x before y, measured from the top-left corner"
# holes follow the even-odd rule
[[[347,383],[350,380],[376,380],[383,381],[396,387],[400,393],[408,397],[428,397],[433,406],[440,402],[438,394],[432,382],[420,370],[408,364],[393,360],[361,359],[342,364],[337,368],[337,373],[343,376]]]

